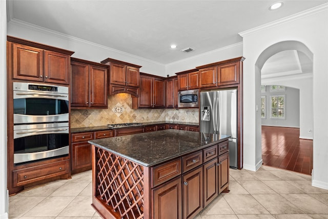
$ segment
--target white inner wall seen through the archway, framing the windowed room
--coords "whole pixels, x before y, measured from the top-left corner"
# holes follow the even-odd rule
[[[262,85],[279,84],[299,89],[299,138],[313,140],[313,78],[292,77],[283,79],[262,79]]]

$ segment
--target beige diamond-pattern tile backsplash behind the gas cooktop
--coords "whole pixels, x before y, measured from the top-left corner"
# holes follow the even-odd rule
[[[108,109],[71,110],[71,128],[116,123],[189,122],[198,123],[198,109],[132,109],[130,94],[108,97]]]

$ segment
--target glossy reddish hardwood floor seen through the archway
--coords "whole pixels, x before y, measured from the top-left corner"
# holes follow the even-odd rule
[[[299,128],[262,126],[263,165],[311,175],[313,140],[299,139]]]

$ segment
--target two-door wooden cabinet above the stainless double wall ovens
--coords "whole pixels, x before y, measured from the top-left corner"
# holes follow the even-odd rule
[[[9,71],[13,79],[69,85],[72,51],[8,36]]]

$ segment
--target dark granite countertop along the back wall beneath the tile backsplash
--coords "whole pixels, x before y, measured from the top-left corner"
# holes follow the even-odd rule
[[[160,121],[160,122],[142,123],[141,125],[136,125],[136,126],[131,126],[131,127],[149,126],[149,125],[157,125],[157,124],[178,124],[178,125],[198,126],[198,123]],[[113,127],[107,127],[107,126],[91,126],[91,127],[82,127],[82,128],[71,128],[71,133],[101,131],[101,130],[119,129],[119,128],[126,128],[126,127],[113,128]]]

